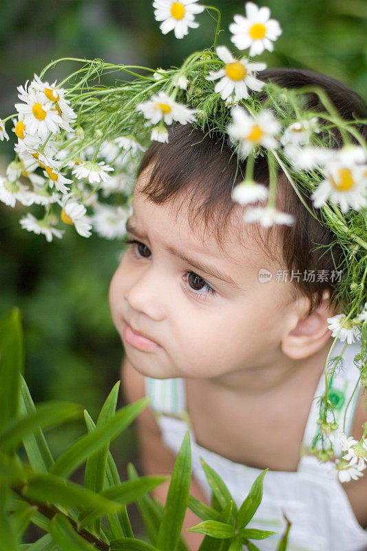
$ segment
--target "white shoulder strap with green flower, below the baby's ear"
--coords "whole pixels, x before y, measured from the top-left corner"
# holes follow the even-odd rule
[[[342,354],[345,342],[337,340],[335,342],[333,351],[331,352],[331,358]],[[342,354],[343,363],[342,368],[337,368],[335,374],[331,380],[331,386],[329,387],[329,399],[334,404],[335,421],[342,429],[345,422],[345,433],[350,435],[352,430],[353,419],[355,417],[355,409],[357,407],[359,397],[359,369],[354,364],[355,355],[360,353],[361,345],[358,342],[353,344],[347,344],[344,353]],[[311,410],[308,415],[306,428],[304,431],[303,445],[305,448],[309,448],[313,445],[313,441],[319,433],[317,428],[317,419],[319,418],[319,398],[325,394],[325,374],[324,371],[317,385],[315,396],[311,405]],[[328,419],[332,421],[333,419]],[[319,447],[319,446],[317,446]],[[340,455],[341,450],[338,449],[338,445],[334,446],[335,453]]]

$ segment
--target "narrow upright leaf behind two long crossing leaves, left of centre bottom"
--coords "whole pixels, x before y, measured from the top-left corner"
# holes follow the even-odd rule
[[[85,424],[87,425],[88,433],[92,433],[96,428],[92,417],[90,417],[87,411],[84,412]],[[120,484],[120,477],[118,475],[118,470],[114,462],[114,458],[111,453],[107,453],[107,465],[105,473],[105,487],[113,488]],[[107,522],[111,528],[112,537],[114,539],[124,538],[124,537],[134,537],[132,531],[132,526],[129,521],[129,515],[127,514],[126,507],[122,507],[118,512],[112,512],[107,514]]]

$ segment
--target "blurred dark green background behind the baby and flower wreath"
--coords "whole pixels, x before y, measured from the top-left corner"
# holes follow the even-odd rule
[[[366,98],[366,0],[257,3],[269,6],[283,29],[275,52],[259,60],[269,67],[324,72]],[[233,14],[244,13],[244,2],[213,0],[213,5],[222,11],[224,32],[218,42],[233,50],[228,25]],[[184,39],[175,39],[172,32],[163,36],[150,0],[0,0],[0,13],[0,117],[14,113],[17,85],[39,74],[52,59],[98,57],[154,68],[180,65],[194,49],[212,44],[216,27],[211,16],[202,13],[197,17],[200,28]],[[60,80],[74,67],[61,64],[47,80]],[[0,174],[11,158],[12,145],[0,143]],[[32,210],[36,216],[37,208]],[[118,380],[123,357],[108,306],[109,281],[123,247],[116,240],[82,238],[69,226],[63,240],[48,243],[21,229],[19,218],[26,211],[21,205],[12,209],[0,203],[0,316],[14,305],[21,309],[25,378],[34,400],[74,400],[96,417]],[[83,430],[82,424],[72,424],[50,433],[54,454]],[[139,467],[134,427],[112,444],[112,453],[123,479],[127,461]]]

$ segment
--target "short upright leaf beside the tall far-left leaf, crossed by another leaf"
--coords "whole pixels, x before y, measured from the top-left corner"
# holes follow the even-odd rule
[[[19,406],[21,415],[36,411],[30,391],[22,375]],[[54,459],[41,428],[36,428],[33,433],[25,436],[23,438],[23,445],[32,468],[37,472],[48,472],[54,463]]]

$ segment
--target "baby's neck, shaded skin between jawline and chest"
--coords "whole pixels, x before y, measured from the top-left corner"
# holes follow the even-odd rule
[[[232,373],[210,377],[207,382],[221,386],[236,395],[262,395],[271,391],[292,388],[306,377],[321,377],[328,351],[333,344],[333,338],[328,339],[313,355],[302,360],[293,360],[280,353],[274,357],[274,362],[262,366],[247,367]]]

